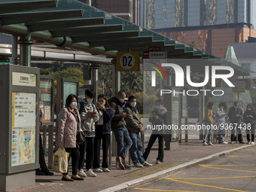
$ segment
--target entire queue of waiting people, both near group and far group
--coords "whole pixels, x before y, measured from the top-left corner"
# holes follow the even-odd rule
[[[87,89],[84,98],[70,94],[66,99],[66,105],[58,114],[58,131],[56,135],[56,147],[65,148],[72,157],[72,176],[68,172],[62,173],[62,181],[83,181],[84,177],[96,177],[98,172],[110,172],[108,169],[108,148],[111,140],[111,131],[117,142],[117,166],[120,169],[130,169],[125,163],[126,154],[130,151],[134,167],[153,166],[148,163],[148,155],[158,139],[158,156],[156,163],[163,163],[163,130],[153,130],[145,152],[142,151],[142,120],[139,111],[136,109],[136,97],[129,96],[128,102],[124,105],[126,93],[120,90],[117,96],[107,99],[103,94],[97,97],[96,105],[93,99],[96,98],[93,90]],[[221,102],[216,113],[213,112],[214,103],[209,102],[204,111],[203,124],[211,126],[218,123],[218,142],[227,144],[224,127],[227,126],[227,117],[230,123],[246,125],[247,144],[254,145],[254,121],[256,114],[254,108],[249,104],[244,110],[238,102],[227,112],[227,104]],[[243,120],[242,120],[243,118]],[[152,126],[166,124],[167,109],[163,101],[158,99],[150,114],[149,121]],[[237,127],[236,127],[237,129]],[[231,143],[236,141],[235,127],[231,129]],[[238,141],[243,144],[242,131],[237,129]],[[84,142],[77,142],[77,135],[84,136]],[[213,145],[211,142],[212,129],[206,129],[203,135],[203,145]],[[102,169],[100,168],[100,148],[102,144]],[[84,162],[84,159],[86,162]],[[85,163],[85,171],[84,171]],[[45,169],[47,170],[47,169]],[[47,174],[52,174],[47,170]]]

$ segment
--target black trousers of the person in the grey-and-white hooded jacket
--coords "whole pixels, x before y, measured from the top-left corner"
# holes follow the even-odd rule
[[[86,137],[85,142],[82,145],[79,145],[79,151],[81,153],[81,157],[79,158],[79,164],[78,164],[78,169],[83,169],[84,168],[84,154],[86,151],[86,162],[85,162],[85,167],[87,171],[89,169],[93,168],[93,141],[94,137]]]

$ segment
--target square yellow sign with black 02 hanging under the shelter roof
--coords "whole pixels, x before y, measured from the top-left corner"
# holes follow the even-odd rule
[[[139,52],[120,51],[117,52],[117,72],[139,71]]]

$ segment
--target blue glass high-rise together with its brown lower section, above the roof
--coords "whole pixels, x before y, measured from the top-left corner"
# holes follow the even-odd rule
[[[141,0],[140,25],[224,58],[227,46],[256,37],[252,0]]]

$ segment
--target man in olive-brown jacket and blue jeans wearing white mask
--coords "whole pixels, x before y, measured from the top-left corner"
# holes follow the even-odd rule
[[[130,96],[123,110],[127,115],[124,117],[126,126],[130,133],[133,145],[130,148],[131,158],[135,167],[152,166],[145,161],[142,154],[142,142],[139,133],[142,133],[142,120],[139,117],[139,111],[136,109],[136,97]]]

